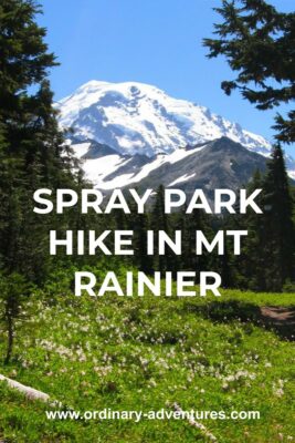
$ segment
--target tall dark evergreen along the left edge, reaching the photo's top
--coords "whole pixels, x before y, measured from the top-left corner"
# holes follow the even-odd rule
[[[49,224],[51,228],[61,225],[54,216],[33,213],[33,193],[39,187],[76,187],[46,79],[56,63],[44,43],[45,29],[35,21],[39,12],[32,0],[0,3],[0,270],[7,282],[1,292],[8,326],[6,362],[23,299],[24,284],[20,282],[44,280]]]

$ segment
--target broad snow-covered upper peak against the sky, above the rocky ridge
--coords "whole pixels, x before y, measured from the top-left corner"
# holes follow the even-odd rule
[[[270,155],[270,143],[204,106],[173,99],[138,82],[92,80],[57,103],[63,127],[80,141],[94,140],[119,154],[172,153],[226,136],[250,151]]]

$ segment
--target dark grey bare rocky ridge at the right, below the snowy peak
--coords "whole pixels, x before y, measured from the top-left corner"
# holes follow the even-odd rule
[[[152,183],[158,183],[183,189],[187,194],[202,188],[210,195],[217,188],[235,190],[249,183],[254,171],[265,169],[265,157],[228,137],[197,150],[191,150],[193,154],[176,163],[162,164],[140,182],[140,187],[152,187]]]

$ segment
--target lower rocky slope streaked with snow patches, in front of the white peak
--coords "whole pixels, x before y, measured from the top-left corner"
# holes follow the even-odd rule
[[[236,189],[255,169],[264,171],[266,158],[228,137],[178,148],[171,154],[123,155],[97,142],[72,145],[81,158],[86,178],[96,188],[156,188],[160,184],[190,193],[201,187]]]

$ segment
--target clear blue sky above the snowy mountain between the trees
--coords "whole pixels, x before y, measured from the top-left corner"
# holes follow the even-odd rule
[[[209,60],[202,38],[219,20],[220,0],[41,0],[46,41],[61,66],[51,73],[55,99],[89,80],[137,81],[202,104],[272,138],[275,112],[256,111],[220,89],[232,78],[224,59]],[[293,0],[272,0],[283,11]],[[285,147],[295,156],[294,146]]]

